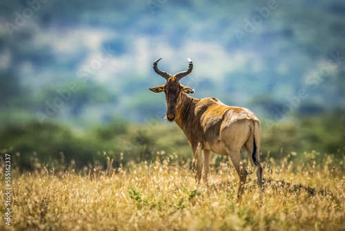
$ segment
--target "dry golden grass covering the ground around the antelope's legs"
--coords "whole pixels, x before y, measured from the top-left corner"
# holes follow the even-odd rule
[[[116,171],[13,171],[12,225],[2,219],[0,230],[345,230],[344,161],[262,161],[263,200],[251,174],[238,202],[232,166],[213,166],[209,186],[198,186],[190,163],[175,158]]]

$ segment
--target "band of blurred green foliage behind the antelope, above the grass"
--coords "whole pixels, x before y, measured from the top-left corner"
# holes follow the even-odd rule
[[[282,160],[286,156],[298,161],[322,158],[333,154],[342,159],[345,149],[345,119],[339,113],[324,116],[304,116],[295,121],[270,124],[262,121],[262,160]],[[80,169],[98,163],[106,167],[107,158],[112,167],[130,161],[154,162],[171,156],[180,163],[193,158],[184,133],[177,125],[163,122],[130,124],[117,118],[109,124],[94,126],[80,133],[72,129],[38,122],[9,125],[0,133],[2,153],[12,154],[19,169],[31,169],[35,162],[50,167],[69,165],[72,160]],[[313,155],[307,155],[307,154]],[[246,154],[243,156],[246,158]]]

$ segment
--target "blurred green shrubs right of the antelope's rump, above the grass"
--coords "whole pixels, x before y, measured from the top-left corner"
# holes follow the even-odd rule
[[[262,123],[263,155],[281,158],[297,152],[295,158],[302,158],[304,151],[320,154],[335,154],[342,158],[345,149],[345,112],[336,111],[326,115],[296,116],[286,123],[268,126]],[[282,152],[282,154],[281,154]]]

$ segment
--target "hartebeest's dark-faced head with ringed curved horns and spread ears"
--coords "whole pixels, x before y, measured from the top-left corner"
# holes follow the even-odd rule
[[[191,89],[188,86],[184,86],[179,83],[179,80],[181,78],[185,77],[189,73],[192,72],[193,70],[193,62],[188,58],[189,61],[189,66],[187,71],[181,71],[177,73],[176,75],[170,75],[169,73],[165,71],[160,71],[159,68],[157,67],[157,63],[159,62],[161,58],[157,59],[153,63],[153,70],[158,75],[161,75],[161,77],[164,77],[166,79],[166,84],[161,85],[161,86],[155,86],[152,87],[152,89],[149,89],[153,93],[160,93],[164,91],[166,93],[166,119],[170,122],[173,122],[176,117],[176,107],[179,104],[180,97],[179,95],[181,93],[186,93],[186,94],[193,94],[194,90]]]

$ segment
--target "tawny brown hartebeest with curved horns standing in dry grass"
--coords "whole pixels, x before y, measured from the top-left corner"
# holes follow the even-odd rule
[[[170,122],[175,121],[184,131],[193,149],[197,181],[201,180],[201,150],[204,151],[203,178],[206,182],[211,151],[230,156],[239,175],[240,195],[247,176],[246,169],[242,167],[240,153],[246,149],[248,155],[251,155],[251,162],[257,167],[257,182],[262,192],[262,167],[259,163],[261,126],[255,114],[243,107],[226,106],[217,98],[190,97],[187,94],[193,94],[194,90],[183,86],[179,80],[192,72],[193,62],[188,58],[187,71],[170,75],[157,67],[160,59],[153,63],[153,69],[166,79],[166,84],[149,90],[153,93],[166,93],[166,119]]]

